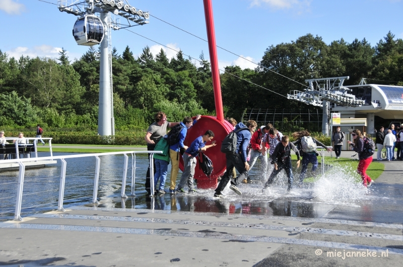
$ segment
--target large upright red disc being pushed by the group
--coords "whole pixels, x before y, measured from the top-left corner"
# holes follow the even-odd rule
[[[193,119],[195,119],[195,117],[193,117]],[[203,170],[199,168],[199,163],[197,163],[194,172],[194,179],[197,181],[197,188],[199,189],[217,188],[217,177],[224,174],[227,166],[225,154],[221,152],[221,143],[227,134],[234,130],[234,127],[227,121],[220,122],[216,117],[201,116],[201,119],[199,119],[193,127],[187,130],[186,139],[183,143],[190,146],[194,139],[204,135],[207,130],[213,131],[213,141],[216,140],[217,144],[205,151],[205,154],[212,160],[214,169],[210,177],[207,177]],[[211,142],[206,143],[206,145],[210,144]],[[182,157],[179,158],[179,168],[183,170],[183,159]]]

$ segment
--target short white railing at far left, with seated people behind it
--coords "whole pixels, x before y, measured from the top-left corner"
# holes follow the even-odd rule
[[[49,140],[50,156],[53,155],[53,152],[52,152],[52,138],[50,138],[50,137],[43,137],[43,138],[36,138],[36,137],[24,137],[24,138],[6,137],[4,139],[6,140],[7,144],[5,144],[5,145],[0,144],[0,155],[2,155],[2,156],[0,156],[0,159],[2,159],[2,160],[5,160],[8,155],[13,156],[13,157],[15,157],[17,159],[20,158],[20,154],[22,154],[24,157],[31,157],[31,152],[34,152],[35,158],[37,158],[38,157],[38,150],[37,150],[38,140]],[[19,143],[18,141],[21,140],[21,139],[24,139],[25,143]],[[30,140],[32,140],[33,142],[29,143]],[[7,147],[8,148],[14,148],[15,147],[15,153],[9,153],[10,151],[6,152]],[[31,151],[31,148],[33,148],[34,150]],[[22,151],[21,151],[21,149],[22,149]]]

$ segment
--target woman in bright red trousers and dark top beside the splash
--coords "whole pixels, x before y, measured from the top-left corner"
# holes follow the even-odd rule
[[[369,164],[371,164],[372,162],[372,154],[369,153],[367,151],[367,149],[364,149],[364,137],[363,135],[361,135],[361,131],[360,130],[353,130],[353,132],[351,133],[351,135],[353,136],[353,141],[347,141],[352,147],[353,150],[356,151],[358,153],[358,166],[357,166],[357,172],[358,174],[361,175],[361,179],[362,179],[362,183],[364,185],[364,187],[370,187],[372,185],[372,180],[371,177],[367,175],[366,171],[367,168],[369,166]],[[386,139],[386,138],[385,138]]]

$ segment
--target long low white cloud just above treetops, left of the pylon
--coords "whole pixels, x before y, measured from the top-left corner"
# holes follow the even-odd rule
[[[41,46],[34,46],[34,47],[22,47],[19,46],[17,48],[11,49],[9,51],[5,51],[9,58],[14,57],[17,60],[21,56],[29,56],[30,58],[36,57],[49,57],[56,59],[60,57],[59,52],[61,52],[60,47],[52,47],[50,45],[41,45]],[[73,54],[69,51],[66,52],[66,55],[69,57],[69,60],[72,62],[74,58],[80,58],[81,54]]]

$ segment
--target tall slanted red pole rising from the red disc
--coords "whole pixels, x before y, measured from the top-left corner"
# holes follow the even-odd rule
[[[211,0],[203,0],[205,6],[207,38],[209,41],[211,73],[213,76],[214,101],[217,119],[224,122],[223,99],[221,98],[220,72],[218,68],[216,33],[214,31],[213,5]]]

